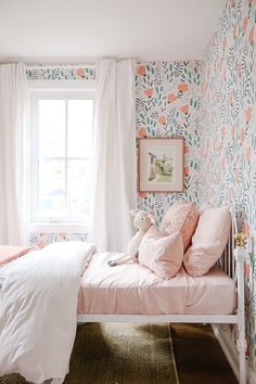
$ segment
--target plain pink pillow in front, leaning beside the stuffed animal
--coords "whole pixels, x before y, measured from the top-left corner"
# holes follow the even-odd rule
[[[139,247],[139,263],[162,279],[174,278],[180,270],[183,259],[183,243],[179,232],[163,236],[151,227]]]

